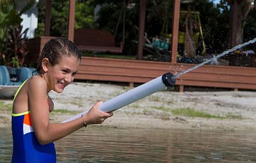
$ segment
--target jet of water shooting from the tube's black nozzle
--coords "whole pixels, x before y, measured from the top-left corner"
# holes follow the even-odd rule
[[[204,62],[200,63],[200,64],[197,64],[195,67],[191,67],[190,69],[187,69],[186,71],[183,71],[181,73],[178,73],[178,74],[175,74],[172,76],[172,79],[174,80],[175,78],[178,78],[179,76],[181,76],[182,74],[186,74],[188,73],[189,71],[192,71],[194,69],[197,69],[198,67],[201,67],[203,66],[204,64],[207,64],[209,62],[212,62],[212,60],[215,60],[215,59],[219,59],[220,57],[223,57],[224,55],[228,54],[228,53],[231,53],[231,52],[234,52],[235,50],[237,49],[240,49],[242,48],[243,46],[246,46],[246,45],[249,45],[251,43],[255,43],[256,42],[256,38],[250,40],[250,41],[247,41],[245,43],[242,43],[240,45],[236,45],[234,46],[233,48],[230,48],[229,50],[226,50],[224,51],[223,53],[220,53],[219,55],[216,55],[215,57],[212,57],[211,59],[208,59],[208,60],[205,60]]]

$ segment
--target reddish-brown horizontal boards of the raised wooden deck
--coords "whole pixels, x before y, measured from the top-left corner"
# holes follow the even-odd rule
[[[166,72],[180,73],[193,64],[83,57],[76,80],[145,83]],[[175,85],[256,90],[256,68],[205,65],[177,78]]]

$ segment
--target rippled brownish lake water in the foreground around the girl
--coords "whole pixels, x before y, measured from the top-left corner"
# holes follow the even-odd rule
[[[0,162],[12,132],[0,128]],[[58,162],[256,162],[255,131],[87,127],[56,141]]]

